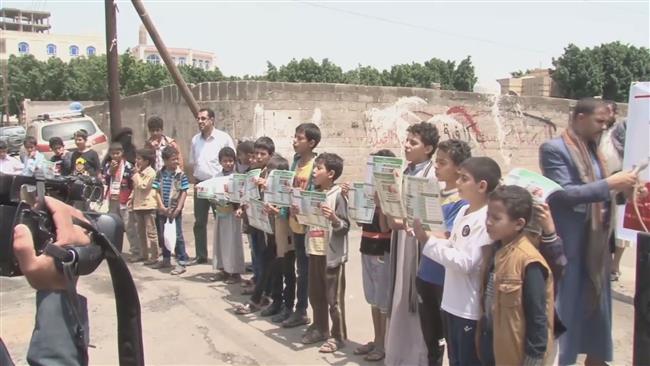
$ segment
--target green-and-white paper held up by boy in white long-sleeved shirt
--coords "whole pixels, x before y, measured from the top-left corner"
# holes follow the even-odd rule
[[[427,231],[446,231],[438,181],[407,176],[404,179],[404,203],[409,225],[418,218]]]

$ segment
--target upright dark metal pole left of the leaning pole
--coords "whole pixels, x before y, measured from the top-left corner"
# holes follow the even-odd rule
[[[122,128],[120,114],[120,72],[117,53],[116,4],[114,0],[104,0],[106,15],[106,63],[108,66],[108,109],[110,111],[111,136]]]

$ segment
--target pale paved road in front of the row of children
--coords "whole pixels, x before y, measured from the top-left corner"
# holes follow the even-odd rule
[[[187,211],[191,212],[191,202]],[[186,214],[184,233],[192,237],[192,215]],[[212,232],[212,223],[208,226]],[[303,346],[302,329],[283,329],[256,315],[238,316],[232,305],[245,301],[239,285],[211,283],[208,265],[189,267],[182,276],[130,265],[140,292],[147,365],[297,365],[370,364],[352,350],[372,335],[369,307],[361,287],[358,231],[350,237],[350,262],[346,267],[346,311],[350,342],[341,352],[319,354]],[[191,240],[190,240],[191,242]],[[193,248],[190,246],[190,253]],[[622,280],[614,289],[614,339],[616,365],[632,363],[634,313],[633,253],[624,257]],[[115,304],[108,268],[103,264],[79,281],[88,297],[91,319],[92,365],[117,364]],[[0,279],[0,337],[17,364],[24,355],[34,321],[34,292],[23,278]]]

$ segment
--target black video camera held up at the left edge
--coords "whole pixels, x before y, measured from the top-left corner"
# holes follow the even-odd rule
[[[42,194],[52,196],[63,202],[91,201],[99,202],[103,198],[104,187],[97,178],[70,176],[52,179],[35,178],[18,175],[0,174],[0,235],[8,237],[0,240],[0,276],[19,276],[22,273],[13,252],[13,229],[18,224],[29,227],[34,238],[34,249],[38,255],[56,238],[56,228],[47,208],[33,208],[21,199],[21,192],[35,192],[38,184],[44,186]],[[111,214],[84,212],[97,228],[119,251],[122,250],[124,225],[122,220]],[[88,246],[65,248],[76,257],[78,274],[91,273],[103,259],[103,250],[91,243]]]

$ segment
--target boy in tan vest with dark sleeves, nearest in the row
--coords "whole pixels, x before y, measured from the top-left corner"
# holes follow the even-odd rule
[[[502,186],[490,194],[485,225],[494,243],[484,247],[479,333],[486,366],[552,361],[553,276],[524,232],[532,214],[524,188]]]

